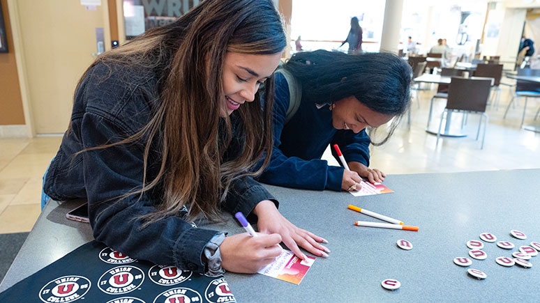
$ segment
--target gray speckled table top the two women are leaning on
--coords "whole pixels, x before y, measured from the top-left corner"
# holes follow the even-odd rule
[[[301,228],[329,240],[329,258],[317,258],[303,281],[292,283],[261,274],[225,279],[238,302],[531,302],[540,293],[540,263],[531,268],[502,267],[498,256],[511,256],[495,243],[484,243],[488,258],[460,267],[453,258],[468,256],[468,240],[484,232],[520,245],[540,242],[540,169],[387,176],[393,193],[355,197],[347,192],[315,192],[269,186],[280,211]],[[379,220],[347,209],[353,204],[419,226],[419,232],[354,226]],[[92,240],[89,224],[63,215],[75,203],[50,203],[38,219],[0,291]],[[223,226],[241,233],[234,220]],[[527,240],[511,237],[523,231]],[[396,246],[409,240],[413,249]],[[467,268],[485,272],[479,280]],[[381,287],[397,279],[398,290]]]

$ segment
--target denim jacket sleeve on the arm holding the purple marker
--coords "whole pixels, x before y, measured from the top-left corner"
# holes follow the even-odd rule
[[[97,114],[85,114],[82,129],[88,130],[82,137],[85,148],[117,141],[117,134],[123,132],[118,125]],[[133,144],[83,153],[94,238],[132,258],[204,273],[202,253],[218,231],[194,228],[177,216],[143,228],[142,216],[155,212],[158,201],[147,194],[116,198],[141,188],[142,153]]]

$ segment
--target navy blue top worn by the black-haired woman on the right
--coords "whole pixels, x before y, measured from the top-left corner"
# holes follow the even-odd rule
[[[273,149],[268,168],[257,180],[271,185],[302,189],[341,190],[342,166],[321,160],[327,146],[337,143],[347,162],[369,166],[370,139],[365,130],[336,130],[329,105],[317,104],[302,95],[301,104],[284,125],[290,104],[289,85],[276,72],[276,103],[273,109]],[[334,157],[335,151],[332,148]],[[338,160],[339,161],[339,160]]]

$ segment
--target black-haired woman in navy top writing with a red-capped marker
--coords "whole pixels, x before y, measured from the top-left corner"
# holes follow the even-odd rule
[[[369,145],[387,141],[407,110],[410,65],[389,53],[347,56],[317,50],[294,54],[280,69],[274,76],[271,161],[258,180],[283,187],[334,191],[354,189],[352,186],[361,178],[382,182],[384,173],[368,167]],[[287,111],[299,95],[299,107],[286,123]],[[371,141],[365,128],[369,126],[373,133],[394,117],[387,137]],[[334,143],[351,171],[321,160],[327,146]]]

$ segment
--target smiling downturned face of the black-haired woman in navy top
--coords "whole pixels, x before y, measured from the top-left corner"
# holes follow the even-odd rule
[[[352,130],[358,133],[366,126],[379,127],[393,118],[388,114],[372,111],[354,96],[334,102],[332,125],[337,130]]]

